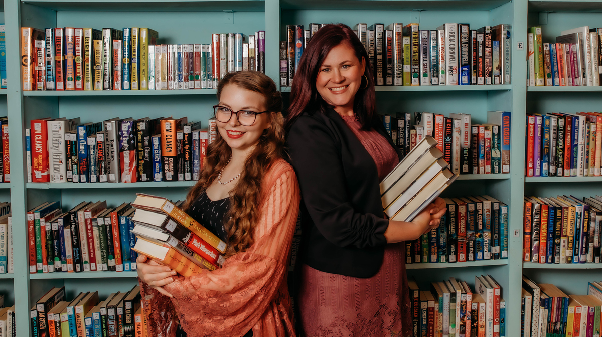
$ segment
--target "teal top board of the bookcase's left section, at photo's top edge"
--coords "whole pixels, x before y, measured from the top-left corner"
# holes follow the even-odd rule
[[[259,0],[24,0],[55,11],[264,11]]]

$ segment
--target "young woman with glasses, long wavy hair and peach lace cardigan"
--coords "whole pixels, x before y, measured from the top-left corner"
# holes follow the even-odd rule
[[[287,264],[299,212],[299,186],[282,159],[285,132],[276,85],[259,72],[228,73],[213,107],[209,145],[185,211],[228,243],[222,268],[178,277],[139,256],[152,336],[294,336]],[[176,317],[177,316],[177,317]]]

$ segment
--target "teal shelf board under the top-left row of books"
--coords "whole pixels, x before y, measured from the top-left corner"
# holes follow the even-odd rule
[[[23,96],[172,96],[172,95],[214,95],[215,89],[200,90],[93,90],[93,91],[23,91]]]

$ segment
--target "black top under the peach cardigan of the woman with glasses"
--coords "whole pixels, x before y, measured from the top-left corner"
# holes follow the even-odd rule
[[[202,223],[209,231],[217,235],[222,241],[228,242],[228,232],[224,226],[224,217],[230,209],[230,198],[213,201],[206,192],[199,194],[188,208],[188,215]]]

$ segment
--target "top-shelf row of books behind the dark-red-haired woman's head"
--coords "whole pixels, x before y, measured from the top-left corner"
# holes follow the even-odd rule
[[[303,49],[324,25],[287,25],[287,40],[280,42],[280,85],[293,84]],[[511,29],[507,24],[470,29],[468,23],[432,30],[418,23],[353,26],[376,85],[510,84]]]

